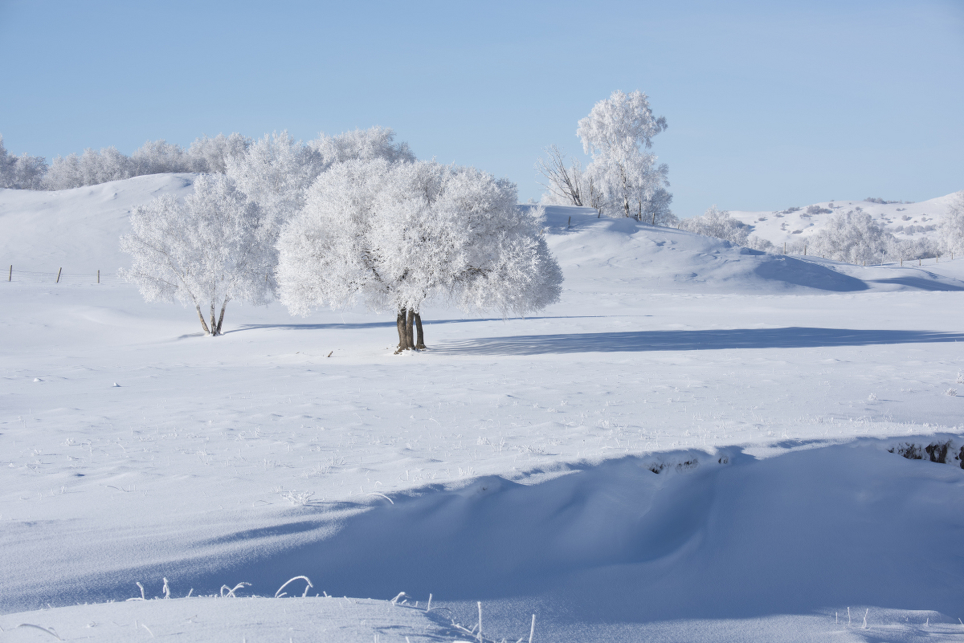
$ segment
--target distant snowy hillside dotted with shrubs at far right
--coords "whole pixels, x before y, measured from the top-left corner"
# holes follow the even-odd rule
[[[899,240],[913,241],[924,237],[936,239],[938,228],[947,215],[954,194],[916,203],[823,201],[775,212],[731,210],[730,214],[734,219],[752,226],[751,234],[766,239],[778,248],[783,248],[784,243],[806,243],[807,239],[823,228],[835,214],[857,208],[869,214],[874,223]],[[808,211],[808,208],[811,211]]]

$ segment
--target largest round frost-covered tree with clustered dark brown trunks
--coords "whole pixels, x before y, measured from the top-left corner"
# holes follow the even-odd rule
[[[558,300],[562,273],[516,186],[436,162],[349,161],[321,174],[281,230],[292,312],[364,303],[396,313],[398,352],[424,348],[421,307],[523,314]]]

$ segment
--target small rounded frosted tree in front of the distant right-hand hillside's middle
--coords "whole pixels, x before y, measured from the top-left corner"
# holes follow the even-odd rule
[[[810,252],[847,263],[880,263],[888,254],[896,254],[897,242],[869,214],[856,208],[830,217],[810,238]]]

